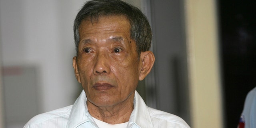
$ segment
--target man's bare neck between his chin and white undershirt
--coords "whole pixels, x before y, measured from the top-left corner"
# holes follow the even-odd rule
[[[108,124],[128,122],[134,109],[134,93],[126,100],[113,106],[99,107],[87,101],[88,111],[92,117]]]

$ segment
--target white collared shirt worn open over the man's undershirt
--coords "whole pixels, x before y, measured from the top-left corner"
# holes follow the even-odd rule
[[[24,128],[98,128],[86,105],[84,91],[74,105],[33,117]],[[190,128],[180,117],[146,106],[135,92],[134,110],[127,128]]]

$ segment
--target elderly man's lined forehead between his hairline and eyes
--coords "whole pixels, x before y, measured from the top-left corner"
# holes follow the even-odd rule
[[[105,44],[104,42],[134,42],[130,38],[130,22],[125,16],[102,16],[97,21],[83,20],[79,28],[80,43]],[[127,42],[127,43],[126,43]],[[134,45],[132,43],[132,45]]]

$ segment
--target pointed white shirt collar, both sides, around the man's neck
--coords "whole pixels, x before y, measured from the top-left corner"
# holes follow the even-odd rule
[[[72,106],[70,116],[68,118],[67,128],[76,128],[87,123],[97,128],[96,123],[88,112],[86,94],[83,90]],[[148,107],[137,91],[135,91],[134,110],[130,116],[127,128],[153,128]]]

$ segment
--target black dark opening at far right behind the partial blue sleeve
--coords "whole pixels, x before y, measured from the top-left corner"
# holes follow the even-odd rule
[[[256,1],[218,0],[226,128],[236,128],[256,86]]]

